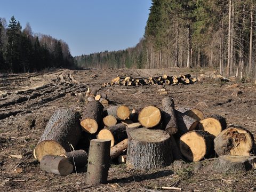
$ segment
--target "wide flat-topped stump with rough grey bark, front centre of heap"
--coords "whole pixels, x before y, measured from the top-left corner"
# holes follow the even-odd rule
[[[170,134],[163,130],[136,129],[130,132],[127,166],[134,169],[160,168],[170,165]]]

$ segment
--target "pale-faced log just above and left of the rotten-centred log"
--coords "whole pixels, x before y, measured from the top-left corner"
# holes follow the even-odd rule
[[[210,118],[202,119],[198,124],[199,129],[213,134],[215,137],[227,128],[226,119],[220,115],[212,115]]]

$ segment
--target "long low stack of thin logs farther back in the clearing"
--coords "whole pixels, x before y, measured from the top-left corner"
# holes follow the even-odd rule
[[[102,87],[113,85],[126,85],[126,86],[141,86],[141,85],[179,85],[179,84],[194,84],[198,79],[196,76],[186,74],[179,76],[157,76],[157,77],[119,77],[113,78],[111,82],[102,84]]]

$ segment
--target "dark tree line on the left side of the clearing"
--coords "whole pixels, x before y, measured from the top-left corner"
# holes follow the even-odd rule
[[[74,64],[66,42],[50,35],[33,34],[29,23],[22,30],[14,16],[9,25],[0,18],[0,73],[27,73]]]

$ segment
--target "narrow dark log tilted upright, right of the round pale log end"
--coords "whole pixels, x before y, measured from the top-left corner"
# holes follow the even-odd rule
[[[167,97],[162,100],[163,127],[170,134],[175,134],[178,131],[176,122],[174,101]]]

